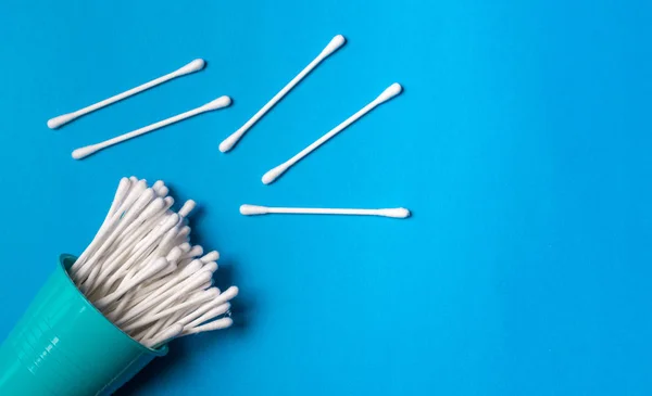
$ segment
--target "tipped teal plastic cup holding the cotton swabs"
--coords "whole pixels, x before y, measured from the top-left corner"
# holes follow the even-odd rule
[[[59,266],[0,346],[0,395],[111,395],[167,346],[150,349],[97,310]]]

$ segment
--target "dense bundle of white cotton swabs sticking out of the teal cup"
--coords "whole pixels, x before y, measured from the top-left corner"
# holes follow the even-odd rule
[[[178,212],[162,181],[120,181],[111,208],[70,274],[115,325],[148,347],[233,324],[231,286],[220,292],[213,272],[220,254],[189,243],[187,201]]]

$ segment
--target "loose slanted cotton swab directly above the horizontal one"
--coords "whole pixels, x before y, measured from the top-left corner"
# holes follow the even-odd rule
[[[403,88],[398,82],[394,82],[391,86],[389,86],[389,88],[387,88],[385,91],[383,91],[383,93],[380,93],[380,95],[378,98],[374,99],[369,104],[362,107],[358,113],[355,113],[352,116],[350,116],[349,118],[347,118],[347,120],[344,120],[343,123],[341,123],[340,125],[335,127],[333,130],[330,130],[329,132],[327,132],[319,139],[317,139],[314,143],[310,144],[308,148],[301,150],[297,155],[294,155],[290,159],[278,165],[277,167],[268,170],[265,175],[263,175],[263,179],[262,179],[263,183],[269,184],[271,182],[276,180],[276,178],[278,178],[286,170],[288,170],[289,167],[291,167],[292,165],[294,165],[296,163],[301,161],[308,154],[312,153],[316,148],[324,144],[326,141],[328,141],[328,139],[333,138],[337,133],[341,132],[344,128],[347,128],[349,125],[356,122],[360,117],[362,117],[366,113],[371,112],[377,105],[379,105],[384,102],[387,102],[388,100],[392,99],[397,94],[401,93],[402,89]]]

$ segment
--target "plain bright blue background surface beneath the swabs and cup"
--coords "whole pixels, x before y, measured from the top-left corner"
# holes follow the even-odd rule
[[[235,328],[175,342],[120,395],[649,395],[651,18],[642,0],[2,1],[0,337],[136,175],[201,204],[196,241],[241,295]],[[208,68],[46,127],[195,58]],[[222,94],[233,107],[71,159]]]

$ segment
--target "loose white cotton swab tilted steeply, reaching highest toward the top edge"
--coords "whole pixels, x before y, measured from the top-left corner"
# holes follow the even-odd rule
[[[274,98],[269,100],[269,102],[267,102],[261,110],[258,111],[258,113],[253,115],[253,117],[251,117],[251,119],[244,123],[244,125],[241,126],[240,129],[236,130],[231,136],[224,139],[224,141],[220,143],[220,151],[226,153],[227,151],[231,150],[234,145],[236,145],[236,143],[240,140],[240,138],[242,138],[242,136],[247,133],[249,128],[251,128],[259,119],[261,119],[265,115],[265,113],[269,111],[269,108],[272,108],[276,103],[278,103],[278,101],[280,101],[283,97],[285,97],[292,88],[294,88],[294,86],[299,84],[299,81],[301,81],[322,61],[324,61],[326,58],[328,58],[328,55],[330,55],[340,47],[342,47],[344,42],[347,42],[344,36],[335,36],[330,40],[328,46],[326,46],[326,48],[322,50],[317,58],[315,58],[308,66],[305,66],[303,71],[301,71],[301,73],[299,73],[294,78],[292,78],[292,80],[288,82],[287,86],[283,87],[283,89],[278,91],[278,93],[276,93]]]

